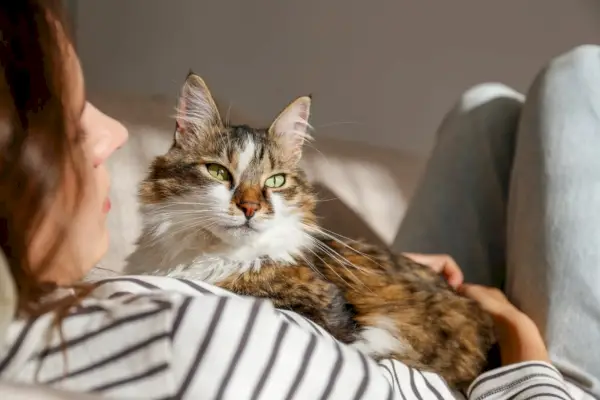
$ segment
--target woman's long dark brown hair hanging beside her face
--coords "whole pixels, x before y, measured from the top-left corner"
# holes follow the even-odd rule
[[[40,265],[32,265],[32,238],[67,171],[76,177],[75,206],[81,198],[83,152],[59,4],[18,0],[0,7],[0,247],[17,286],[19,310],[28,314],[41,312],[39,300],[49,285],[38,278],[40,266],[53,265],[69,229],[63,221]]]

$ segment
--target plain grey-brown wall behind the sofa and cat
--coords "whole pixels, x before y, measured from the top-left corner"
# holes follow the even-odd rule
[[[524,90],[545,60],[598,42],[597,0],[79,0],[94,92],[174,97],[188,69],[268,121],[314,95],[319,135],[425,153],[480,81]]]

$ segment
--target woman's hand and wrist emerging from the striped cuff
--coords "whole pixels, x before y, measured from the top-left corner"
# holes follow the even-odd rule
[[[494,319],[503,365],[523,361],[550,362],[544,339],[535,323],[515,307],[502,291],[463,284],[459,293],[475,300]]]

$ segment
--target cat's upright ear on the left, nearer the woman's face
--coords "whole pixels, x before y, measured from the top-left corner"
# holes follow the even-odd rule
[[[183,144],[221,128],[221,116],[206,83],[190,71],[177,104],[175,142]]]

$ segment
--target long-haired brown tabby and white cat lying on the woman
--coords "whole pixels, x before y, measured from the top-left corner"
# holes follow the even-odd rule
[[[466,388],[494,342],[489,315],[431,268],[318,225],[299,166],[311,102],[296,99],[268,129],[234,126],[190,72],[172,146],[139,188],[143,229],[125,272],[269,298],[376,360]]]

